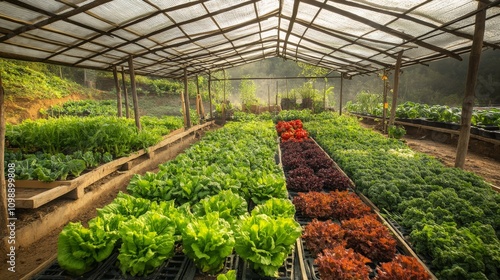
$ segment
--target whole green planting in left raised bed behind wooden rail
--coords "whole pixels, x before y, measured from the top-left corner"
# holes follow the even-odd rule
[[[7,125],[11,149],[6,150],[5,160],[16,165],[20,180],[66,180],[150,147],[182,127],[177,117],[142,117],[141,122],[140,132],[133,120],[117,117],[61,117]]]

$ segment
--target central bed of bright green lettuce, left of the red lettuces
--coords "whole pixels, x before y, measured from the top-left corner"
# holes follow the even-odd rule
[[[270,121],[207,133],[157,173],[135,175],[130,195],[98,209],[88,228],[68,224],[59,264],[81,275],[117,251],[124,274],[147,275],[182,252],[213,274],[238,254],[256,272],[277,276],[302,229],[275,153]]]

